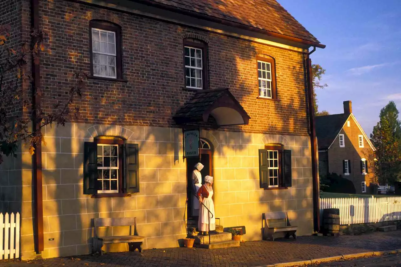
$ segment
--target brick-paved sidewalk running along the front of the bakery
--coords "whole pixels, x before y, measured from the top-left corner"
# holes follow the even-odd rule
[[[85,255],[54,258],[43,261],[1,261],[0,267],[250,267],[360,252],[401,249],[400,234],[401,231],[376,232],[360,236],[311,236],[298,237],[297,240],[249,241],[241,243],[239,248],[229,249],[148,249],[143,251],[142,254],[123,252],[107,253],[103,256]]]

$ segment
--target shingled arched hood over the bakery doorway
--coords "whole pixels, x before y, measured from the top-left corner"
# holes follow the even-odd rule
[[[248,124],[249,115],[228,88],[199,90],[173,116],[177,124],[207,122],[212,116],[217,126]]]

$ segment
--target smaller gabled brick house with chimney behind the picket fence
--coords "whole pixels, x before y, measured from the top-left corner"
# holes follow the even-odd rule
[[[375,177],[375,148],[352,114],[351,101],[344,113],[316,117],[320,177],[336,173],[352,181],[356,193],[367,193]]]

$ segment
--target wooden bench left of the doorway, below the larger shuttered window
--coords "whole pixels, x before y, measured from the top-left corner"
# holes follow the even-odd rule
[[[132,235],[132,226],[134,225],[134,235]],[[103,255],[102,247],[104,244],[128,243],[130,251],[138,249],[142,252],[142,243],[145,237],[138,235],[136,227],[136,218],[95,218],[93,220],[93,253],[98,252]],[[130,235],[125,236],[107,236],[99,237],[98,227],[129,226]]]

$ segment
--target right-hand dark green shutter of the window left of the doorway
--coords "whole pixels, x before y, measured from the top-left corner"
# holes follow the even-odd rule
[[[139,192],[139,162],[138,144],[125,145],[125,180],[124,185],[127,193]]]

